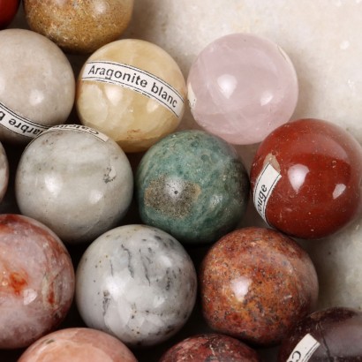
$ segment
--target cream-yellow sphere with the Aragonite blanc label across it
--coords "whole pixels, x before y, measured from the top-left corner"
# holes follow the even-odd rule
[[[176,130],[185,96],[184,75],[165,50],[124,39],[87,59],[76,106],[82,124],[107,134],[125,152],[140,152]]]

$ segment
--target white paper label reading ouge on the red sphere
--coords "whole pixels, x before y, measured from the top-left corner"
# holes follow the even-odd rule
[[[268,200],[281,177],[282,175],[268,162],[255,182],[253,202],[258,213],[267,223],[268,220],[265,214]]]

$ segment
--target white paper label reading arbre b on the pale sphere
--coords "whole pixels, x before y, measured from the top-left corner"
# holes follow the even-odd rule
[[[2,102],[0,102],[0,125],[28,139],[34,139],[50,127],[50,125],[36,124],[26,117],[21,117]]]

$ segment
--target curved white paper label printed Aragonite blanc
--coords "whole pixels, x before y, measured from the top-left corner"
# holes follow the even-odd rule
[[[177,118],[182,116],[184,98],[164,80],[132,65],[106,61],[88,62],[82,80],[93,80],[132,89],[162,104]]]

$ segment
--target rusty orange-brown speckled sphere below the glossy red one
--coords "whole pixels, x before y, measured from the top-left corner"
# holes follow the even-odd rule
[[[248,343],[280,343],[312,312],[318,279],[305,251],[264,228],[230,232],[202,260],[200,296],[207,324]]]

